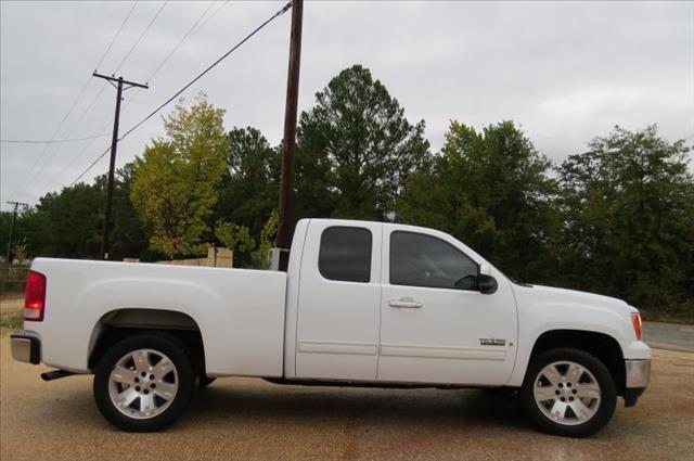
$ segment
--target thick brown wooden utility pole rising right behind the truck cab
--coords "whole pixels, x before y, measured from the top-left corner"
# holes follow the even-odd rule
[[[301,20],[304,0],[292,0],[292,35],[290,37],[290,68],[284,106],[284,138],[282,140],[282,176],[280,177],[280,213],[278,246],[280,267],[285,271],[290,262],[290,219],[294,192],[294,153],[296,152],[296,115],[299,98],[299,65],[301,63]]]

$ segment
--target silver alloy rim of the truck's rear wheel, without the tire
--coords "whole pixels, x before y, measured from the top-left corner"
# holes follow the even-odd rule
[[[178,393],[174,362],[154,349],[137,349],[123,356],[108,376],[108,396],[123,414],[138,420],[166,411]]]

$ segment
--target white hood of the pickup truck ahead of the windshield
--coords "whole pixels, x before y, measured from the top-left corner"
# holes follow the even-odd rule
[[[542,285],[514,285],[514,291],[522,297],[531,297],[536,303],[557,303],[563,305],[575,305],[576,307],[590,306],[602,307],[618,313],[637,311],[621,299],[603,296],[595,293],[579,292],[576,290],[556,289]]]

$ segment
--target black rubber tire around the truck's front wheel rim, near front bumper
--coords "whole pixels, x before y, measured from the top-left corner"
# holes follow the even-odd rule
[[[595,401],[594,413],[582,423],[574,420],[574,424],[568,425],[554,421],[540,409],[541,404],[536,402],[534,387],[540,371],[551,363],[562,361],[580,364],[594,376],[600,386],[600,402]],[[600,431],[612,418],[617,404],[617,390],[609,370],[594,356],[579,349],[557,348],[542,353],[532,360],[520,388],[520,401],[525,413],[541,431],[568,437],[587,437]]]

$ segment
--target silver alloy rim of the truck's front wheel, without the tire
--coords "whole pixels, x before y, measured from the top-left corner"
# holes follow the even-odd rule
[[[538,408],[550,420],[564,425],[582,424],[600,408],[597,380],[586,367],[573,361],[556,361],[536,376],[532,395]]]

